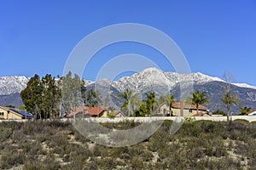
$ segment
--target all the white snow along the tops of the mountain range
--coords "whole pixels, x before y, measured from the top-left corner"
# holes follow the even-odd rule
[[[21,90],[26,88],[28,81],[28,77],[0,77],[0,95],[20,93]],[[119,90],[119,92],[123,92],[126,88],[129,88],[140,93],[154,90],[156,93],[167,94],[180,82],[204,84],[206,82],[224,82],[224,80],[218,77],[207,76],[201,72],[181,74],[171,71],[161,71],[160,69],[151,67],[137,72],[131,75],[131,77],[122,77],[115,82],[103,79],[96,84],[100,86],[111,85],[113,88]],[[95,82],[85,81],[85,86],[89,86],[93,83]],[[245,83],[233,84],[241,88],[256,89],[256,87]]]

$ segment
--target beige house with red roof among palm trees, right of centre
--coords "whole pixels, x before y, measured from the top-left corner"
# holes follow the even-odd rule
[[[183,101],[172,104],[172,110],[169,110],[167,102],[161,104],[156,113],[161,116],[210,116],[208,108],[204,105],[199,105],[198,114],[196,113],[196,105],[186,104]]]

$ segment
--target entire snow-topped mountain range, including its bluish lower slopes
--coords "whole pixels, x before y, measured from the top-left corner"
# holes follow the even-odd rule
[[[26,88],[29,77],[0,77],[0,105],[22,105],[20,91]],[[183,90],[200,90],[207,92],[210,103],[207,106],[211,111],[223,110],[224,104],[220,98],[224,95],[226,82],[218,77],[210,77],[201,72],[180,74],[177,72],[161,71],[157,68],[148,68],[137,72],[131,77],[122,77],[118,81],[102,79],[97,82],[86,81],[87,88],[96,88],[104,96],[110,95],[115,105],[120,105],[122,101],[117,95],[126,88],[133,89],[143,95],[149,91],[154,91],[156,95],[175,94],[176,100],[182,99],[183,94],[180,87],[186,87],[193,83],[193,88],[183,88]],[[246,83],[232,83],[232,92],[241,99],[242,105],[235,105],[234,112],[239,111],[239,107],[247,106],[256,108],[256,87]]]

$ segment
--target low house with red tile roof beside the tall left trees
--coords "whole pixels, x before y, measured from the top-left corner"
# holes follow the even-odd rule
[[[79,106],[75,109],[71,109],[66,117],[108,117],[108,113],[110,112],[109,108],[109,106]]]

